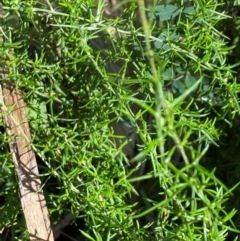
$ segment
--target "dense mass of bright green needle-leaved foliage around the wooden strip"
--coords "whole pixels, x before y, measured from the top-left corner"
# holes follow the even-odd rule
[[[227,152],[211,155],[239,113],[233,46],[221,28],[230,5],[126,6],[108,19],[104,3],[90,0],[3,4],[8,42],[0,49],[14,50],[6,81],[27,103],[52,225],[71,212],[84,219],[86,240],[234,240],[238,206],[228,200],[238,180],[219,175]],[[137,133],[132,160],[113,122]],[[0,229],[24,240],[4,132],[0,138]]]

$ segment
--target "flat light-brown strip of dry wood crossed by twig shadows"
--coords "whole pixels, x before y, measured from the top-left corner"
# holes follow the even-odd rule
[[[3,16],[0,5],[0,18]],[[3,44],[0,37],[0,44]],[[1,56],[4,60],[5,56]],[[34,152],[31,149],[31,134],[26,117],[25,103],[20,90],[6,82],[8,76],[7,61],[0,66],[0,104],[6,132],[9,136],[9,146],[12,153],[19,181],[20,200],[25,216],[30,240],[53,241],[53,232],[41,190],[38,166]]]

